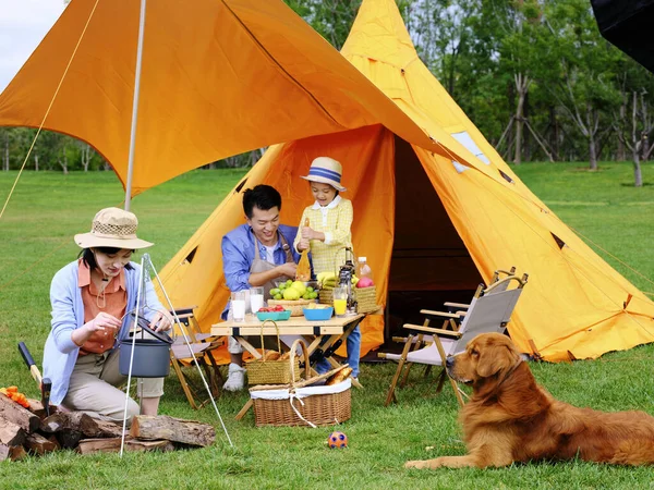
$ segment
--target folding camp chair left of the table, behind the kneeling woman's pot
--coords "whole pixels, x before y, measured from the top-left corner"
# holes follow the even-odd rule
[[[207,383],[211,390],[211,394],[217,397],[220,393],[220,385],[222,385],[222,377],[220,370],[211,351],[222,345],[222,340],[213,336],[210,333],[203,333],[199,329],[199,324],[193,314],[194,307],[178,308],[175,309],[177,316],[181,323],[175,326],[174,342],[170,348],[170,362],[172,367],[180,380],[182,390],[189,400],[189,404],[197,409],[204,406],[209,399],[207,397],[204,402],[198,402],[199,393],[204,391],[204,387],[197,387],[192,383],[186,376],[184,376],[185,369],[195,369],[195,363],[193,358],[197,359],[197,364],[203,368],[207,377]],[[190,341],[190,345],[186,345],[183,332]],[[189,350],[191,347],[191,350]],[[208,394],[207,394],[208,395]]]

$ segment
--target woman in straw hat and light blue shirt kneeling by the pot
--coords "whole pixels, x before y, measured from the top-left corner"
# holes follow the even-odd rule
[[[100,210],[89,233],[75,235],[80,258],[59,270],[50,286],[51,330],[44,351],[44,377],[50,378],[50,402],[122,421],[126,376],[119,372],[119,342],[129,336],[138,295],[141,266],[131,262],[136,249],[153,244],[136,237],[136,216],[119,208]],[[150,281],[145,281],[143,316],[156,331],[169,330]],[[137,383],[141,408],[130,399],[128,419],[156,415],[164,378]]]

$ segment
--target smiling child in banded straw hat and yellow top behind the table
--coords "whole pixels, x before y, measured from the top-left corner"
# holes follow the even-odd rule
[[[318,157],[311,162],[308,181],[315,203],[304,209],[300,220],[300,233],[293,243],[298,252],[311,248],[314,274],[335,271],[344,259],[343,247],[352,248],[352,219],[354,211],[352,201],[344,199],[339,193],[346,189],[341,185],[342,167],[329,157]],[[303,226],[308,219],[308,226]],[[337,255],[342,255],[338,261]],[[352,368],[352,377],[359,377],[359,357],[361,351],[361,331],[356,327],[348,336],[348,364]],[[316,370],[325,372],[331,369],[329,363],[320,360]]]

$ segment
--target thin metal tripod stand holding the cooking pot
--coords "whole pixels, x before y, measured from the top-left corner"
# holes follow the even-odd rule
[[[146,272],[148,272],[148,273],[146,273]],[[153,261],[150,260],[149,254],[143,254],[143,257],[141,258],[141,272],[138,275],[138,295],[136,297],[136,310],[134,313],[134,315],[135,315],[134,324],[138,323],[138,313],[141,311],[141,309],[147,307],[147,305],[145,304],[145,285],[146,285],[146,281],[150,280],[150,273],[154,273],[155,277],[157,278],[157,283],[159,284],[159,287],[161,289],[161,292],[164,293],[164,296],[166,297],[166,302],[168,304],[168,309],[170,311],[172,311],[174,321],[177,323],[181,323],[181,321],[178,317],[178,314],[174,310],[172,303],[170,302],[170,297],[168,297],[168,293],[166,292],[166,289],[164,287],[164,283],[161,282],[161,279],[159,279],[159,274],[157,273],[157,270],[155,269],[155,266],[153,265]],[[204,387],[207,390],[207,393],[211,400],[211,404],[214,405],[214,409],[216,411],[218,420],[220,420],[222,430],[225,431],[225,434],[227,436],[229,445],[231,445],[233,448],[234,444],[232,443],[231,438],[229,437],[227,427],[225,427],[225,422],[222,421],[222,417],[220,416],[220,412],[218,411],[218,405],[216,405],[216,400],[214,399],[211,390],[209,389],[209,384],[207,383],[207,380],[204,377],[202,369],[199,368],[199,364],[197,363],[197,359],[196,359],[195,355],[193,354],[193,348],[191,347],[191,340],[186,335],[186,332],[184,329],[180,329],[180,330],[182,332],[182,335],[184,336],[184,344],[189,348],[189,353],[191,354],[191,357],[193,358],[193,363],[195,364],[197,372],[199,373],[199,377],[202,378],[202,382],[204,383]],[[120,443],[120,457],[122,457],[124,444],[125,444],[125,428],[126,428],[126,422],[128,422],[128,405],[130,402],[130,385],[132,382],[132,368],[134,366],[135,344],[136,344],[136,333],[134,332],[134,334],[132,335],[132,348],[130,352],[130,368],[129,368],[129,372],[128,372],[128,389],[125,391],[125,408],[123,412],[123,430],[122,430],[122,440]]]

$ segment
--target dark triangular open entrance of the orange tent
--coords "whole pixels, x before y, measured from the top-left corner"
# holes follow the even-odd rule
[[[385,336],[422,323],[423,308],[468,303],[483,282],[411,145],[395,138],[396,216]]]

